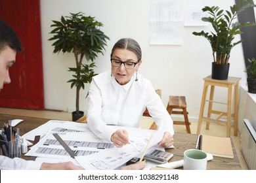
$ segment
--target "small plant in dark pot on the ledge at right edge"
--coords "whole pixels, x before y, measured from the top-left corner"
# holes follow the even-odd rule
[[[256,59],[248,59],[248,65],[245,69],[247,73],[247,85],[249,93],[256,93]]]

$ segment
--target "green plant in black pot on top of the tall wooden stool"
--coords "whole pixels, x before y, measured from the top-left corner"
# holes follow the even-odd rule
[[[234,37],[243,32],[242,27],[255,25],[253,22],[238,22],[237,16],[245,8],[253,7],[253,0],[242,0],[238,5],[233,5],[230,10],[221,10],[219,7],[204,7],[203,12],[207,12],[209,17],[203,17],[202,21],[209,22],[214,31],[209,33],[193,32],[194,35],[205,37],[211,44],[213,53],[212,74],[211,77],[219,80],[226,80],[229,71],[230,52],[236,44],[242,40],[234,42]]]

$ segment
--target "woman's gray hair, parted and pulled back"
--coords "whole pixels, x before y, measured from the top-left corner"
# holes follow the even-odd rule
[[[137,56],[139,61],[142,58],[142,52],[140,49],[140,45],[134,39],[131,39],[131,38],[119,39],[119,41],[117,41],[116,44],[112,48],[111,56],[117,48],[127,49],[127,50],[132,51],[133,53],[135,53],[135,55]]]

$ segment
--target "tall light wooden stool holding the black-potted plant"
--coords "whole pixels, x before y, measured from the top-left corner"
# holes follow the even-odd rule
[[[226,125],[226,137],[230,137],[230,127],[231,127],[231,118],[234,118],[234,136],[238,135],[238,86],[239,80],[241,78],[228,77],[227,80],[215,80],[211,78],[211,75],[203,78],[203,95],[201,101],[200,115],[198,120],[198,130],[197,133],[200,134],[200,129],[202,126],[202,121],[207,122],[206,129],[209,129],[209,123],[215,123],[220,125]],[[211,86],[211,92],[209,95],[209,100],[206,99],[208,86]],[[228,99],[227,103],[221,103],[213,101],[213,94],[215,86],[226,87],[228,88]],[[234,87],[234,114],[232,114],[232,97],[233,97],[233,87]],[[207,118],[203,117],[203,111],[205,107],[205,101],[209,102]],[[227,112],[213,110],[213,103],[221,103],[227,105]],[[219,114],[216,119],[211,118],[211,114]],[[226,122],[219,120],[222,116],[226,116]]]

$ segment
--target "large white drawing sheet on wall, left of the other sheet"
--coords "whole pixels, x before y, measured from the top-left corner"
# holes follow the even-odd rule
[[[182,32],[182,1],[151,0],[150,44],[181,45]]]

